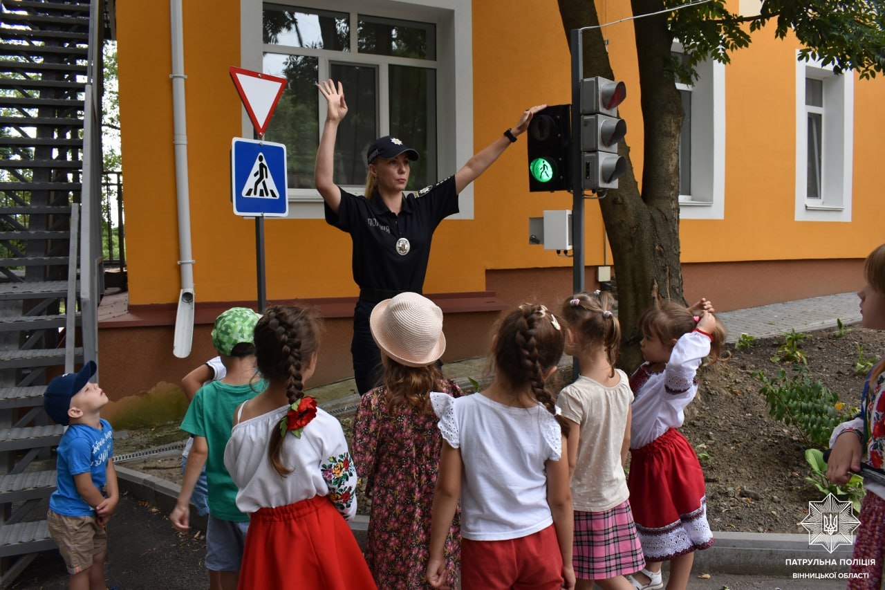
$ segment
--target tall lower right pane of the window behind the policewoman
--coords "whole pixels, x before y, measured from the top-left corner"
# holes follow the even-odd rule
[[[418,151],[407,190],[419,190],[436,178],[436,71],[390,66],[390,135]]]

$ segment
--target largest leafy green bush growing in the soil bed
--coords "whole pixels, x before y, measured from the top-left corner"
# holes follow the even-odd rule
[[[768,413],[782,423],[796,426],[809,446],[825,447],[835,426],[848,416],[839,397],[820,381],[812,381],[804,365],[793,367],[792,374],[781,369],[773,379],[762,371],[753,373],[761,383]]]

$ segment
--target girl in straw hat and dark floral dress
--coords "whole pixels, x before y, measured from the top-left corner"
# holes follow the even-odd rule
[[[461,395],[443,380],[443,312],[418,293],[381,301],[370,317],[381,349],[384,383],[362,397],[354,424],[354,459],[372,498],[366,562],[381,588],[427,588],[430,508],[443,438],[430,392]],[[443,395],[441,393],[441,395]],[[458,571],[458,518],[443,540],[443,569]]]

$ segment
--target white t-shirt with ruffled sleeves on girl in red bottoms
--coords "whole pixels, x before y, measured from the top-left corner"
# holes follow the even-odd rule
[[[431,393],[439,429],[461,451],[461,536],[519,539],[553,524],[548,461],[562,456],[562,433],[542,405],[512,408],[481,393]]]

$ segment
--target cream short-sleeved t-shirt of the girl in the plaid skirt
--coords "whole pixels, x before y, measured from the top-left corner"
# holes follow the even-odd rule
[[[624,371],[617,372],[619,381],[612,387],[580,376],[563,388],[556,401],[563,417],[581,428],[572,499],[574,509],[582,512],[608,510],[630,497],[620,447],[633,392]]]

